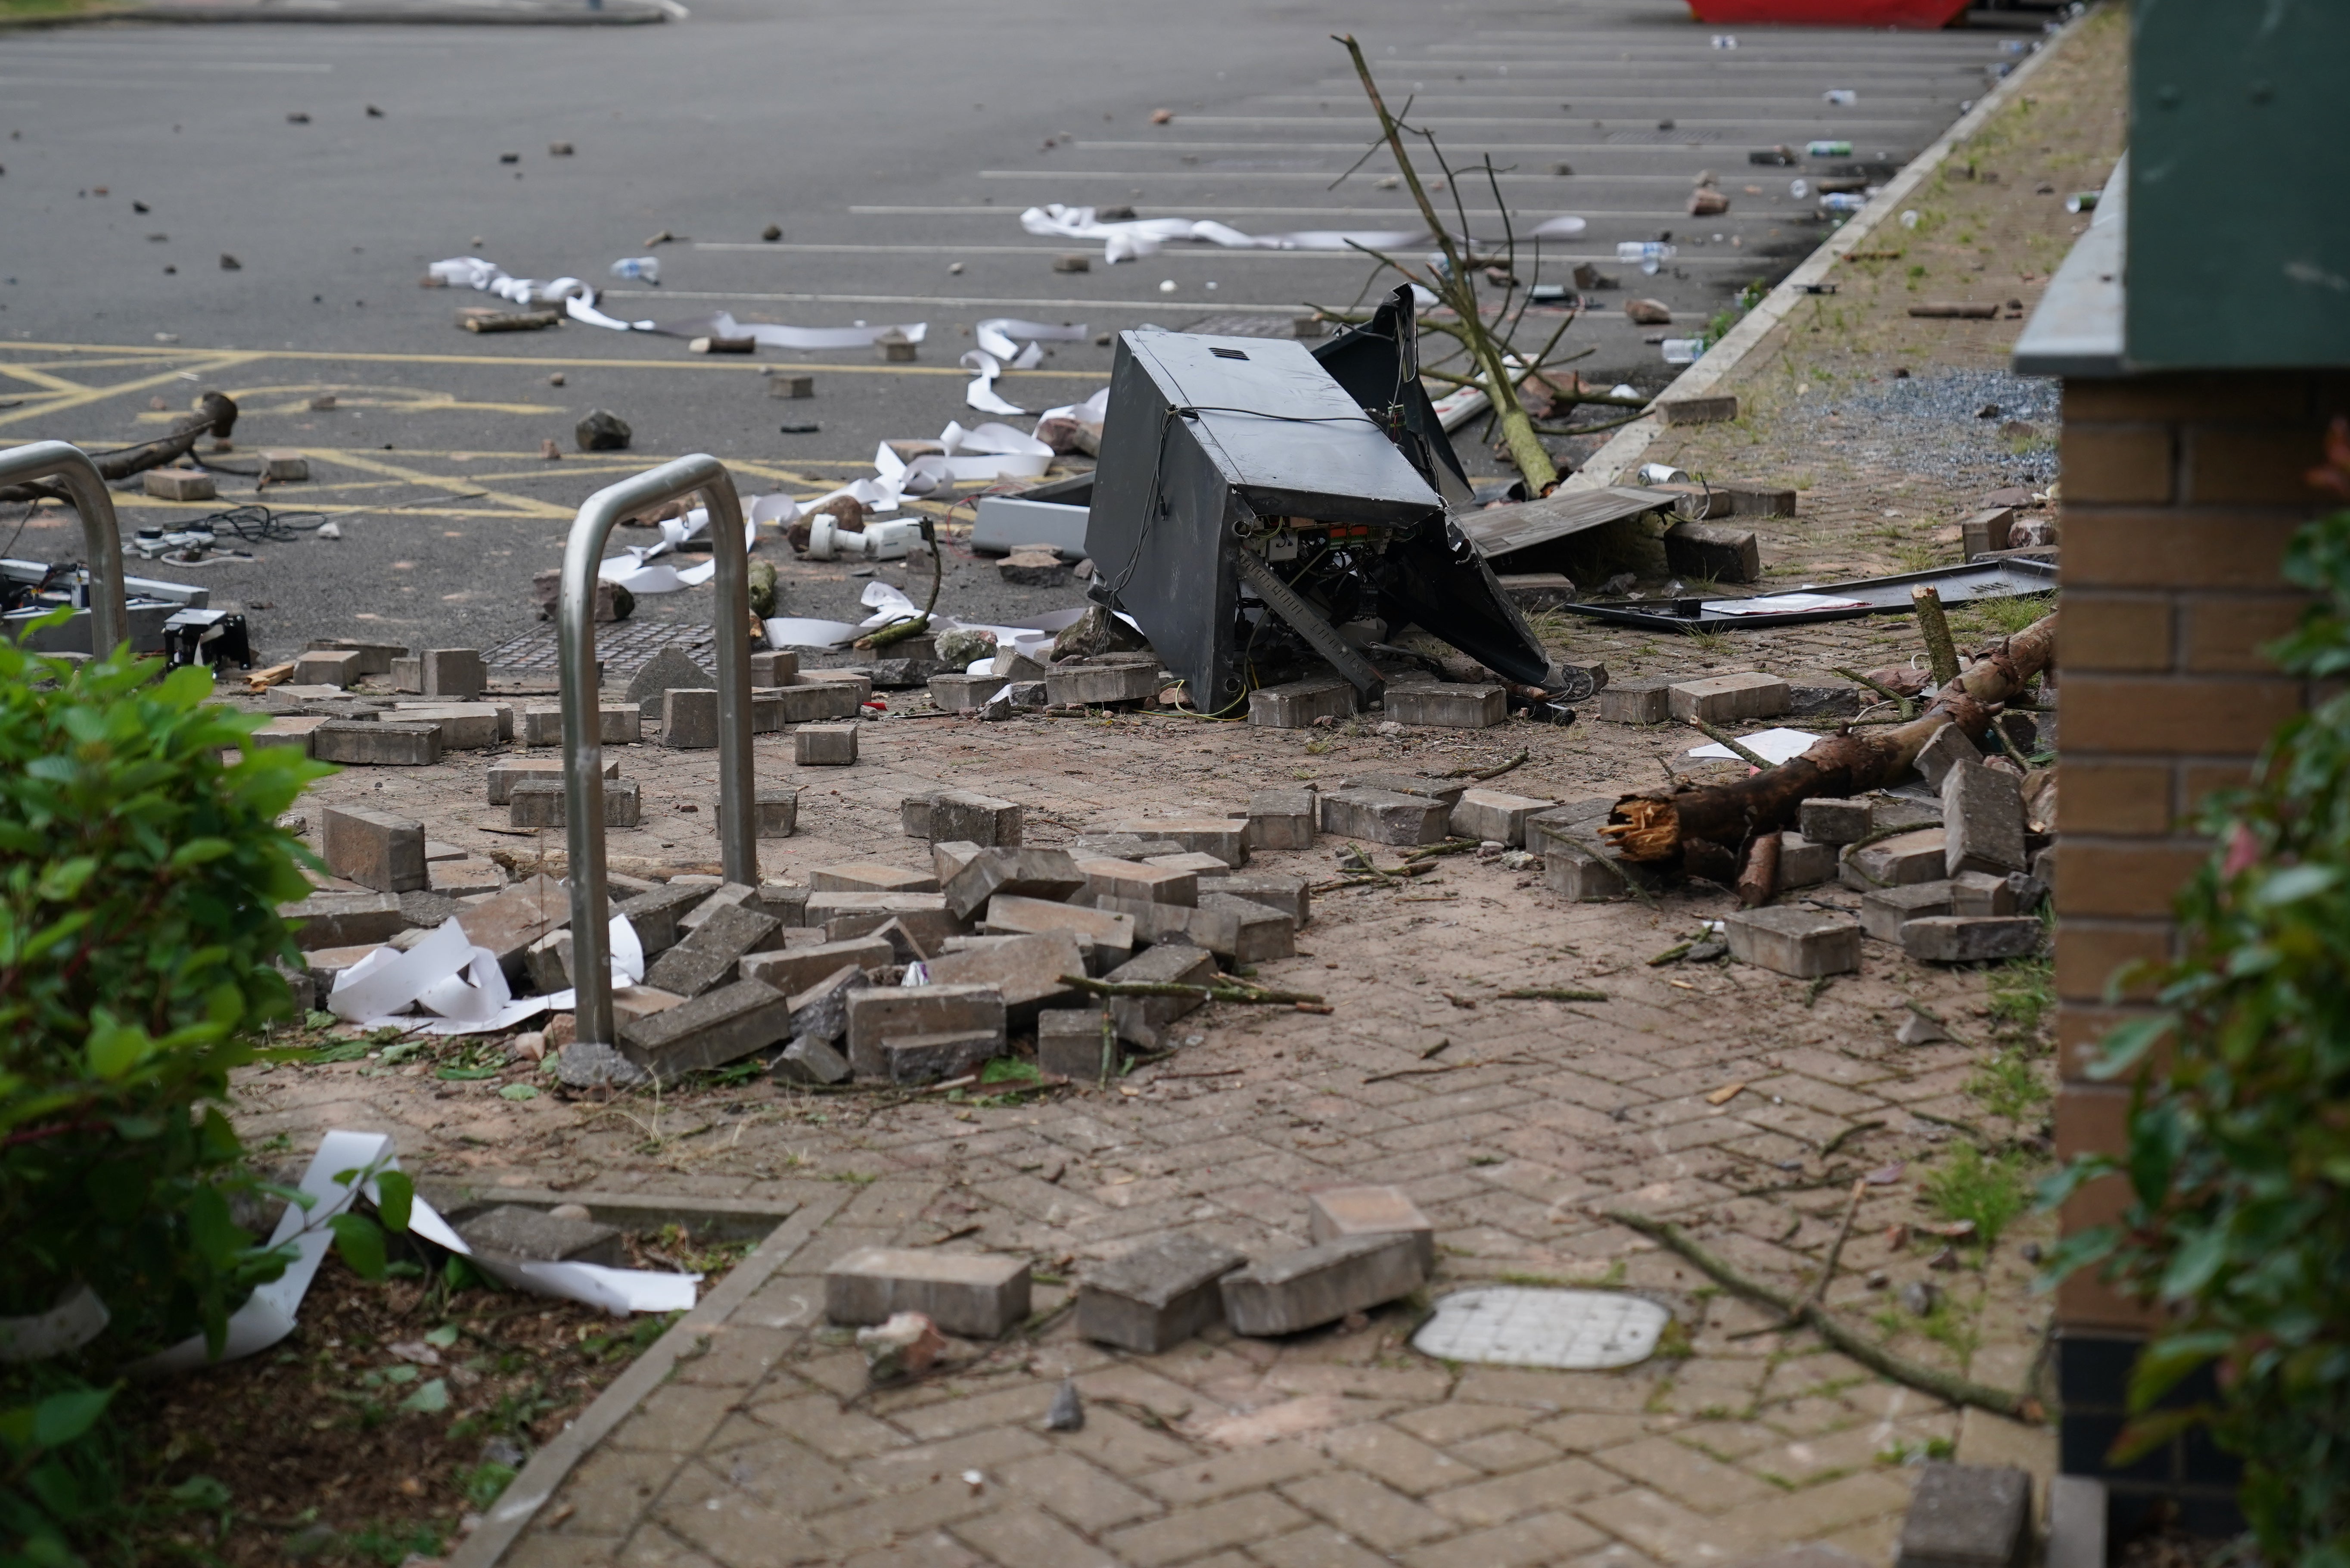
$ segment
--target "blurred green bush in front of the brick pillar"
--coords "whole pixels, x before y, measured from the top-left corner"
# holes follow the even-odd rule
[[[2350,428],[2324,482],[2350,494]],[[2322,595],[2270,649],[2294,675],[2350,672],[2350,510],[2308,524],[2287,574]],[[2129,1208],[2059,1248],[2160,1309],[2115,1458],[2207,1425],[2244,1460],[2265,1561],[2350,1563],[2350,696],[2287,722],[2254,785],[2214,806],[2214,853],[2181,893],[2186,957],[2160,1013],[2117,1030],[2101,1077],[2136,1074],[2120,1173]],[[2167,1046],[2169,1065],[2148,1053]],[[2218,1389],[2162,1403],[2202,1368]]]

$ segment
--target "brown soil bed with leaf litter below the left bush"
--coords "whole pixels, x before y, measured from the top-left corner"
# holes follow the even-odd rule
[[[630,1267],[712,1276],[707,1291],[750,1244],[667,1227],[627,1251]],[[118,1406],[132,1493],[176,1505],[125,1526],[127,1556],[240,1568],[439,1556],[674,1316],[454,1286],[418,1258],[367,1281],[329,1255],[282,1345],[134,1385]]]

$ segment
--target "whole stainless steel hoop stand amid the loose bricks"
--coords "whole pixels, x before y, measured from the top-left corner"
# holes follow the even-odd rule
[[[750,769],[750,552],[743,543],[743,501],[733,475],[714,456],[696,454],[649,468],[588,496],[564,545],[557,654],[564,679],[564,825],[571,872],[571,985],[578,1039],[613,1044],[611,933],[604,872],[604,717],[597,703],[595,588],[604,541],[623,517],[639,517],[670,501],[700,494],[710,510],[717,574],[719,661],[719,860],[728,882],[759,882],[759,839],[752,816]]]

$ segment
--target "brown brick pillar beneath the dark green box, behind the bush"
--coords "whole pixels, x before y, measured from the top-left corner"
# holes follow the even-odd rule
[[[2063,632],[2056,853],[2061,1157],[2122,1147],[2127,1084],[2084,1067],[2143,990],[2115,971],[2174,950],[2171,898],[2202,863],[2190,832],[2204,797],[2244,783],[2305,691],[2261,656],[2303,595],[2280,564],[2294,529],[2326,508],[2305,473],[2350,381],[2322,374],[2164,374],[2068,381],[2063,393]],[[2082,1190],[2066,1229],[2113,1218],[2120,1178]],[[2099,1474],[2117,1521],[2169,1495],[2228,1528],[2232,1467],[2183,1441],[2129,1472],[2103,1455],[2146,1314],[2092,1276],[2056,1295],[2063,1469]],[[2181,1389],[2197,1399],[2202,1389]]]

